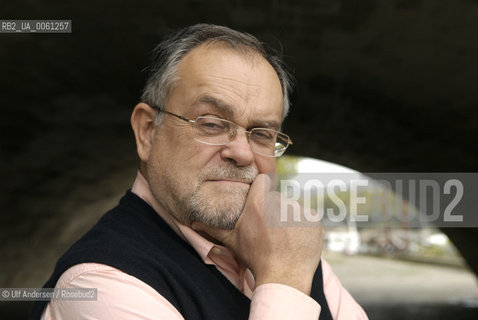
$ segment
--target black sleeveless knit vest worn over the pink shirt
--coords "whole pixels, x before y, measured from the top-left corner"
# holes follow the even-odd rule
[[[138,278],[187,320],[248,318],[250,299],[215,266],[204,264],[197,252],[131,191],[58,260],[44,288],[54,288],[63,272],[85,262],[106,264]],[[332,319],[320,265],[311,296],[321,305],[319,319]],[[36,301],[30,319],[40,319],[47,303]]]

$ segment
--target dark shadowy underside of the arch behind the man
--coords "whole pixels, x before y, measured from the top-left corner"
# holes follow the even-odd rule
[[[129,116],[150,52],[194,23],[282,49],[297,83],[290,154],[362,172],[477,172],[476,0],[22,0],[3,1],[0,19],[73,27],[0,34],[0,287],[41,286],[130,187]],[[477,273],[476,229],[443,231]]]

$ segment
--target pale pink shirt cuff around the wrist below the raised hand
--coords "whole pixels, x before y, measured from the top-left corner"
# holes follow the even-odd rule
[[[320,305],[303,292],[283,284],[267,283],[252,294],[249,320],[317,320],[319,314]]]

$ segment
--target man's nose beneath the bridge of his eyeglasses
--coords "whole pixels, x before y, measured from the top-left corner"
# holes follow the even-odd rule
[[[237,130],[233,139],[221,149],[221,157],[237,166],[248,166],[254,161],[254,153],[244,130]]]

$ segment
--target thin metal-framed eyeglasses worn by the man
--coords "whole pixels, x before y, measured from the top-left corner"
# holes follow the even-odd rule
[[[237,131],[243,131],[251,150],[254,153],[266,157],[280,157],[284,154],[292,140],[288,135],[267,128],[253,128],[250,131],[239,129],[238,125],[226,119],[201,116],[196,120],[190,120],[175,113],[161,110],[157,106],[152,108],[178,119],[191,123],[194,140],[213,146],[222,146],[231,142],[237,135]]]

